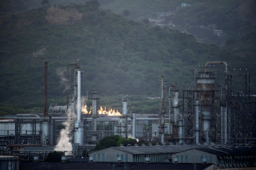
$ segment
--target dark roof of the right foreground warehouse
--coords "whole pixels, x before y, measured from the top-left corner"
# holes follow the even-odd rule
[[[206,147],[195,148],[203,152],[214,154],[217,156],[229,156],[229,155],[256,155],[255,148],[250,147]]]

